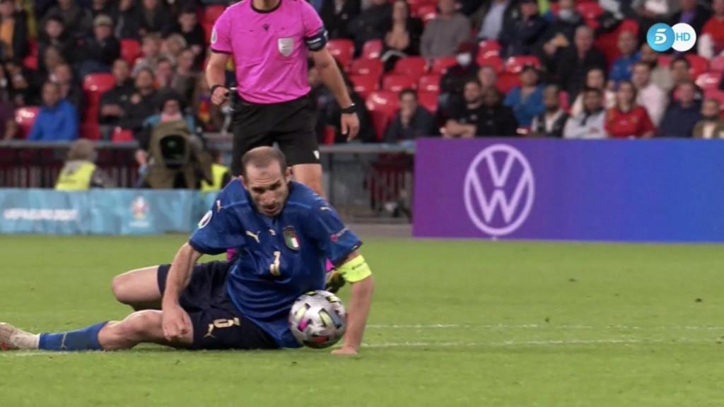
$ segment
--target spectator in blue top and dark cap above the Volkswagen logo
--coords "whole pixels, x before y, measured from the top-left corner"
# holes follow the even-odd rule
[[[533,65],[521,70],[521,85],[515,86],[505,96],[503,104],[513,109],[518,125],[529,127],[533,118],[545,111],[543,85],[539,84],[539,73]]]

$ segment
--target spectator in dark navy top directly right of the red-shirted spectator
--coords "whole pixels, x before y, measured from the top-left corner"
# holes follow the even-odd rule
[[[702,119],[702,104],[694,99],[694,83],[684,82],[676,85],[678,100],[673,101],[659,130],[660,137],[690,138],[694,136],[694,127]]]

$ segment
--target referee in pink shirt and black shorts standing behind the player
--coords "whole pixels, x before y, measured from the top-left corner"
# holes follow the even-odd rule
[[[206,80],[211,101],[224,104],[230,96],[225,69],[233,58],[240,97],[232,121],[233,175],[241,174],[243,154],[276,142],[295,179],[322,195],[319,146],[308,109],[308,51],[342,106],[342,133],[351,140],[359,131],[355,105],[326,46],[327,30],[305,0],[243,0],[216,20]]]

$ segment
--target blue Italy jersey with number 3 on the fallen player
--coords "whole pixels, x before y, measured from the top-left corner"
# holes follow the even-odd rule
[[[256,210],[240,180],[219,193],[189,243],[206,254],[237,249],[227,277],[232,303],[284,348],[300,346],[289,311],[299,295],[324,288],[325,259],[339,264],[362,244],[306,185],[291,182],[284,209],[271,218]]]

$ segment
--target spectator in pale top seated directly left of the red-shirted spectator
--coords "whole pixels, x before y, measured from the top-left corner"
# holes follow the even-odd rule
[[[583,109],[565,122],[563,138],[607,138],[603,92],[599,88],[585,87],[581,92],[581,97],[583,98]]]

